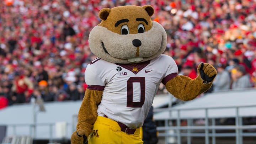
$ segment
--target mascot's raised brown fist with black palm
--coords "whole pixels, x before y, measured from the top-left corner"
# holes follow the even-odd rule
[[[199,76],[204,80],[204,83],[212,82],[217,75],[217,70],[208,63],[201,63],[197,67]]]

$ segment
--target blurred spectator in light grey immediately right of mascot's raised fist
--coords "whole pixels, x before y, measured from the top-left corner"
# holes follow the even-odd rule
[[[214,92],[229,90],[230,89],[230,74],[225,70],[225,65],[219,63],[217,64],[218,76],[216,76],[213,81],[213,90]]]

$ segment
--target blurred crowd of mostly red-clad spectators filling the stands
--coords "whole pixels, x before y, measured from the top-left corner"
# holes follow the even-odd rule
[[[88,46],[104,7],[152,5],[167,32],[164,54],[181,75],[199,63],[218,75],[208,92],[256,83],[255,0],[5,0],[0,3],[0,108],[30,102],[80,100],[84,72],[96,58]],[[165,93],[160,85],[158,93]]]

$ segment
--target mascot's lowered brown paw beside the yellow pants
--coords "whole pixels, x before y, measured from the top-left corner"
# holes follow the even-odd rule
[[[71,136],[71,144],[84,144],[87,142],[85,130],[78,129]]]

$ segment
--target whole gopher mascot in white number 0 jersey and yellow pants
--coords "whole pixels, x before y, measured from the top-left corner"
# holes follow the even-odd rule
[[[153,14],[150,5],[100,10],[102,21],[89,35],[98,58],[85,71],[88,87],[72,144],[143,144],[140,127],[161,82],[184,101],[212,86],[217,71],[208,63],[198,66],[196,79],[177,74],[175,61],[162,54],[167,36]]]

